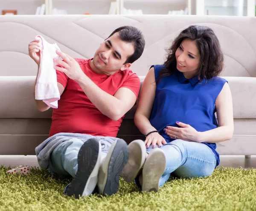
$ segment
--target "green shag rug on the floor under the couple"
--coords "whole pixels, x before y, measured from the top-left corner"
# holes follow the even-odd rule
[[[117,194],[82,199],[63,194],[71,179],[39,168],[27,176],[7,174],[9,169],[0,167],[0,211],[256,211],[256,169],[220,167],[207,178],[171,178],[158,193],[141,192],[120,179]]]

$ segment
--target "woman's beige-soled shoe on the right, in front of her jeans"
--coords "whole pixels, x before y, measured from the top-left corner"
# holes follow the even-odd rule
[[[166,157],[162,150],[152,150],[146,158],[142,171],[142,191],[158,192],[159,180],[166,168]]]

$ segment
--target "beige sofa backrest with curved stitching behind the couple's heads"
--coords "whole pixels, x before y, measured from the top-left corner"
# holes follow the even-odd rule
[[[146,45],[132,69],[146,75],[152,64],[162,64],[165,48],[189,25],[211,27],[225,55],[223,76],[256,77],[256,19],[254,17],[172,15],[58,15],[0,17],[0,75],[36,75],[28,43],[40,34],[73,58],[91,58],[99,44],[119,26],[141,29]]]

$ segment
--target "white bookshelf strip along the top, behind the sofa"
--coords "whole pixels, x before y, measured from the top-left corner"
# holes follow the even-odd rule
[[[255,5],[256,0],[0,0],[0,14],[168,14],[172,11],[171,14],[255,16]]]

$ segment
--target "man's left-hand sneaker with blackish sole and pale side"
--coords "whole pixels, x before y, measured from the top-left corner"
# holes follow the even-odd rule
[[[78,170],[67,188],[68,196],[79,199],[90,195],[97,185],[101,145],[97,139],[89,139],[81,146],[77,162]]]

